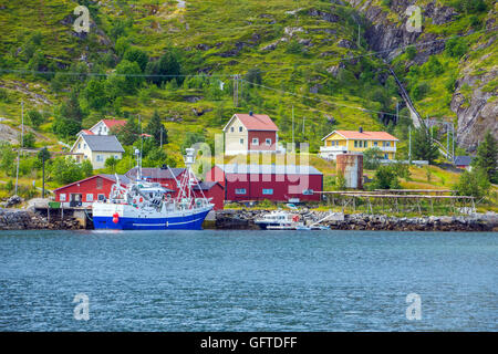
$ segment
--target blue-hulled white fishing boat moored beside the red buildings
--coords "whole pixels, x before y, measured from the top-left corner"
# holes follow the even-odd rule
[[[136,180],[125,188],[116,175],[108,200],[93,204],[95,229],[200,230],[214,204],[210,202],[212,198],[206,198],[201,189],[200,196],[194,191],[199,184],[191,171],[195,149],[186,149],[186,173],[180,180],[176,180],[179,190],[175,198],[170,195],[173,190],[142,177],[142,154],[136,150],[135,155]]]

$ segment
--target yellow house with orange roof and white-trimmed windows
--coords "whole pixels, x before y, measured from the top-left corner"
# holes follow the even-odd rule
[[[378,147],[385,159],[396,158],[398,139],[386,132],[333,131],[322,138],[320,156],[335,159],[339,154],[363,153],[367,148]]]

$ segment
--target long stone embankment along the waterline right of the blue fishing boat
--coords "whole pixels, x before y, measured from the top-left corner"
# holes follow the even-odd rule
[[[216,215],[217,229],[258,229],[255,220],[269,210],[224,210]],[[471,216],[425,216],[397,218],[384,215],[323,212],[300,210],[297,212],[307,225],[319,221],[334,230],[393,230],[393,231],[498,231],[497,214],[476,214]]]

